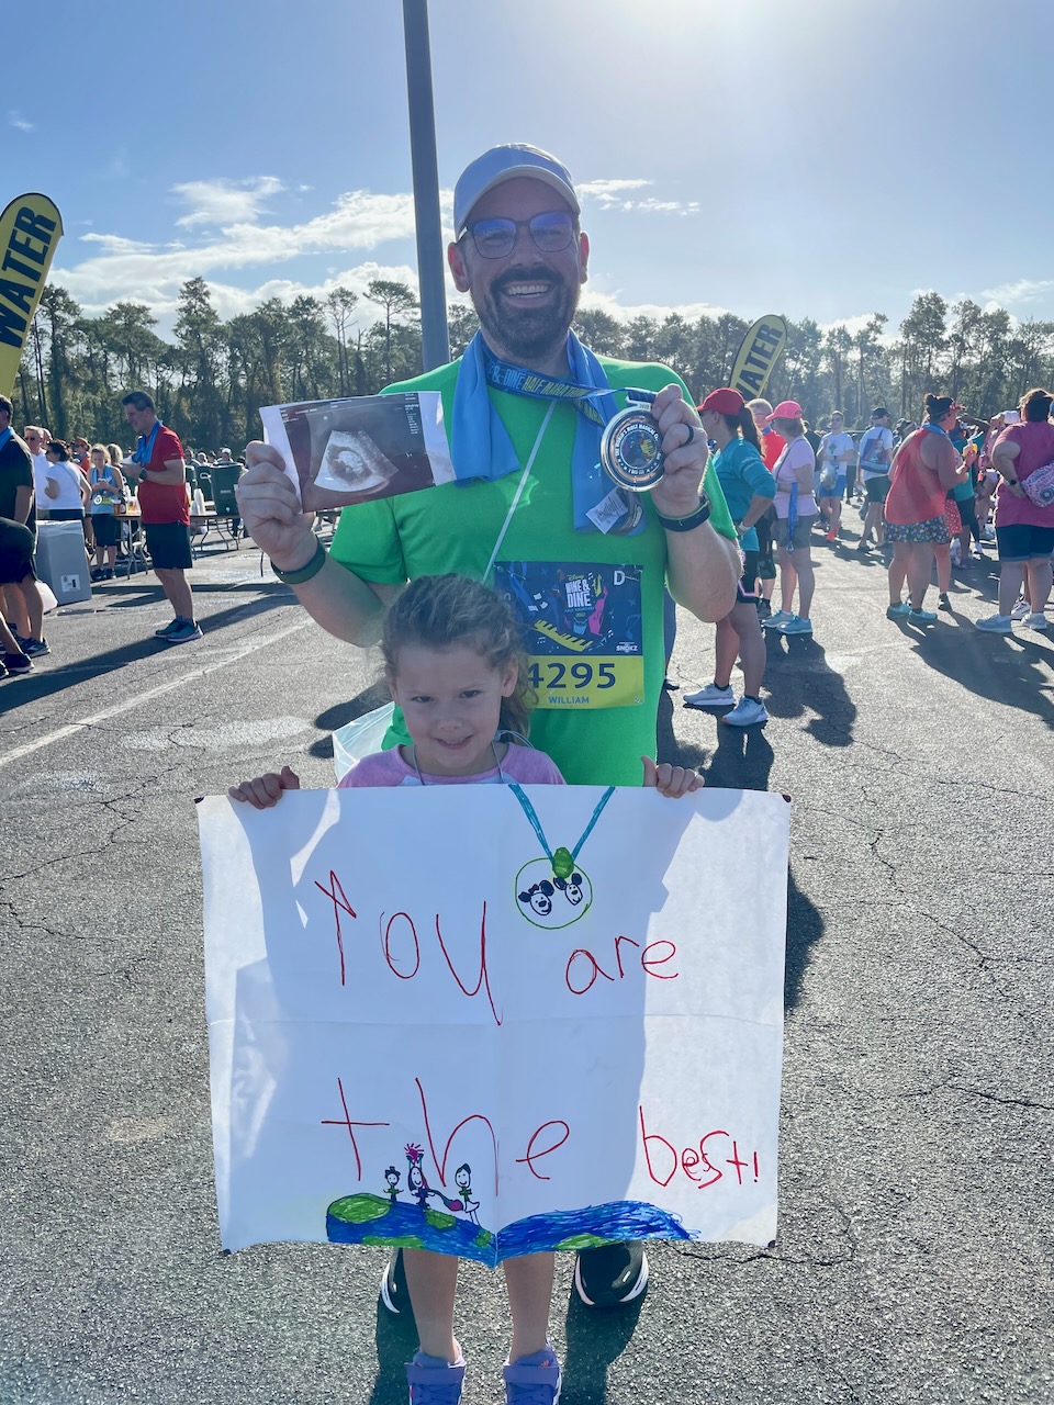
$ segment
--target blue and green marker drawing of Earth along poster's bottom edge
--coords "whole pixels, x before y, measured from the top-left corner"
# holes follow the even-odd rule
[[[457,1201],[454,1201],[457,1204]],[[693,1239],[677,1215],[639,1200],[614,1200],[582,1210],[530,1215],[492,1234],[443,1210],[401,1204],[385,1196],[334,1200],[326,1211],[330,1243],[377,1243],[431,1249],[475,1259],[493,1269],[502,1259],[544,1249],[589,1249],[618,1239]]]

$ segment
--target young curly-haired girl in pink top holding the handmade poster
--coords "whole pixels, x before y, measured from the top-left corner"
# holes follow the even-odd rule
[[[462,785],[476,783],[564,785],[557,766],[524,745],[534,701],[521,656],[519,625],[493,590],[465,576],[422,576],[385,617],[381,639],[385,676],[402,708],[412,742],[360,760],[340,781],[360,785]],[[642,757],[644,784],[669,797],[703,784],[680,766]],[[299,777],[281,773],[242,781],[229,794],[257,809],[274,805]],[[402,1263],[399,1263],[402,1257]],[[552,1253],[506,1259],[505,1280],[513,1321],[505,1366],[506,1401],[555,1402],[559,1363],[548,1340]],[[457,1405],[465,1361],[454,1336],[458,1260],[426,1249],[396,1253],[381,1295],[398,1297],[405,1272],[419,1350],[406,1367],[410,1401]]]

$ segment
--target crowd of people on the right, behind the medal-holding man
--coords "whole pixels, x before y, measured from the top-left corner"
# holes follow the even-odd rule
[[[991,422],[968,416],[947,395],[926,396],[919,424],[899,420],[891,427],[888,409],[877,406],[859,441],[846,431],[839,410],[816,434],[795,400],[776,407],[763,399],[748,405],[735,391],[721,389],[698,410],[741,534],[743,577],[736,606],[718,622],[714,681],[687,694],[689,707],[729,707],[722,721],[738,726],[767,719],[759,691],[765,672],[760,629],[812,634],[812,544],[836,545],[852,535],[843,520],[846,507],[860,513],[856,552],[885,556],[891,620],[929,627],[939,611],[951,614],[951,572],[968,573],[995,547],[998,610],[975,627],[992,634],[1010,634],[1016,621],[1048,628],[1051,392],[1027,391],[1017,409]],[[935,575],[936,611],[925,608]],[[780,608],[773,613],[777,579]],[[745,608],[746,603],[755,608]],[[738,702],[731,687],[736,656],[743,672]]]

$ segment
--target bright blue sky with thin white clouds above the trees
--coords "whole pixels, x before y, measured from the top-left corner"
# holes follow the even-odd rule
[[[444,225],[486,146],[548,148],[586,305],[1054,318],[1048,0],[431,0],[430,28]],[[164,333],[198,274],[223,316],[416,281],[399,0],[38,0],[32,30],[0,204],[55,200],[86,312]]]

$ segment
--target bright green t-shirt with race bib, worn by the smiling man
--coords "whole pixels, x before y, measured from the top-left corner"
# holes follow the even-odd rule
[[[662,365],[600,357],[613,389],[659,391],[680,384]],[[444,423],[454,409],[460,362],[392,385],[440,391]],[[520,464],[530,458],[547,400],[488,392]],[[571,455],[578,412],[558,405],[509,523],[493,573],[524,622],[530,677],[538,694],[531,743],[571,784],[639,785],[641,756],[655,754],[665,674],[662,599],[666,534],[642,495],[648,525],[637,535],[576,532]],[[444,483],[419,493],[346,507],[330,555],[364,580],[402,584],[457,570],[479,580],[509,513],[521,473],[495,482]],[[717,476],[707,472],[711,521],[735,541]],[[613,705],[614,704],[614,705]],[[406,742],[396,710],[385,746]]]

